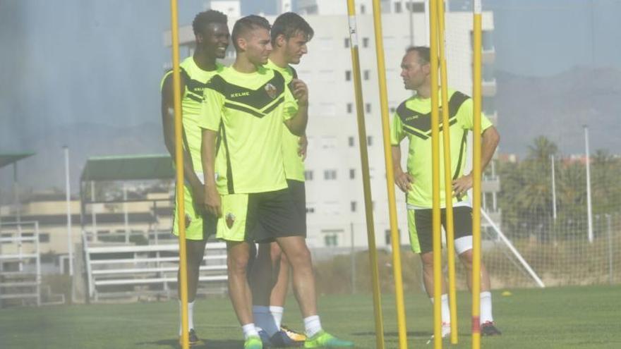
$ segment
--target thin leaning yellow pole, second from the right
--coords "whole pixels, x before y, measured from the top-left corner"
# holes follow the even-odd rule
[[[440,87],[442,94],[442,147],[444,148],[444,186],[447,237],[447,264],[449,267],[449,304],[451,312],[451,343],[457,344],[457,292],[455,285],[455,241],[452,205],[451,138],[449,121],[449,93],[446,60],[444,0],[438,4],[438,42],[440,44]]]

